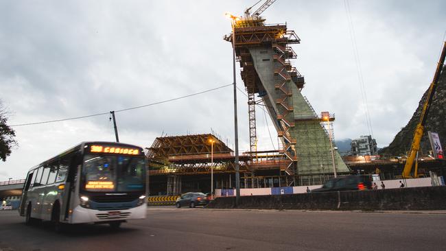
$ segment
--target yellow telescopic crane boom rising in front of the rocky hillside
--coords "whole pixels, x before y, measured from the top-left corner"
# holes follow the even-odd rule
[[[403,174],[402,174],[403,178],[418,178],[418,151],[420,150],[421,137],[423,136],[427,114],[429,113],[430,105],[432,104],[432,98],[434,97],[435,94],[438,78],[440,78],[441,72],[443,71],[444,68],[443,64],[445,63],[445,56],[446,56],[446,41],[443,44],[443,51],[441,52],[440,60],[438,61],[436,67],[434,80],[432,80],[432,83],[430,84],[429,92],[427,93],[427,99],[423,105],[420,121],[416,125],[414,131],[414,138],[412,140],[412,145],[410,146],[410,154],[406,159],[406,165],[404,165],[403,169]],[[415,163],[414,174],[413,176],[411,176],[410,172],[412,171],[414,163]]]

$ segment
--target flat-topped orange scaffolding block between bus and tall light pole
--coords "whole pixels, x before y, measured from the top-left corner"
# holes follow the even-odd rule
[[[213,147],[211,147],[211,141]],[[179,195],[186,191],[211,189],[211,171],[214,187],[235,184],[235,154],[213,134],[163,136],[145,148],[152,194]],[[239,156],[239,171],[248,171],[249,154]]]

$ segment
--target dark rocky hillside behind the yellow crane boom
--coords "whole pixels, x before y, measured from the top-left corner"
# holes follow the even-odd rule
[[[427,131],[438,132],[438,136],[440,136],[441,146],[443,150],[446,147],[446,67],[443,67],[443,73],[438,80],[438,86],[436,88],[436,93],[434,95],[434,99],[432,101],[432,105],[429,110],[429,114],[427,115],[427,121],[425,125],[425,130],[423,134],[423,138],[421,139],[421,152],[420,154],[428,154],[431,150],[429,139],[427,138]],[[412,119],[410,119],[409,123],[398,132],[395,139],[393,139],[392,143],[388,145],[388,147],[384,147],[380,152],[380,154],[391,155],[391,156],[400,156],[406,155],[406,151],[410,150],[410,144],[412,143],[412,138],[414,134],[414,130],[416,128],[416,124],[419,122],[421,110],[423,108],[423,104],[427,97],[427,90],[425,91],[423,97],[419,102],[418,108],[416,108],[414,115],[412,115]]]

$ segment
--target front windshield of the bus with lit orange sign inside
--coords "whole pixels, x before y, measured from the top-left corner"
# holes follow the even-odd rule
[[[91,192],[145,190],[145,161],[139,156],[84,156],[82,189]]]

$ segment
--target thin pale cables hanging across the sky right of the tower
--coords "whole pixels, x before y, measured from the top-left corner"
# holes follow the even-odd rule
[[[360,92],[361,92],[361,97],[362,97],[362,104],[364,106],[364,112],[366,115],[366,123],[367,123],[368,133],[372,136],[372,139],[373,139],[374,138],[373,128],[372,128],[372,122],[370,119],[370,112],[368,110],[366,87],[364,84],[364,77],[362,75],[360,54],[357,49],[357,43],[356,43],[356,38],[355,38],[355,29],[353,27],[353,20],[351,19],[349,0],[344,0],[344,8],[345,8],[345,13],[347,15],[347,21],[349,23],[349,34],[350,34],[350,38],[351,38],[351,45],[353,47],[353,56],[355,58],[357,79],[358,79],[359,85],[360,85]]]

